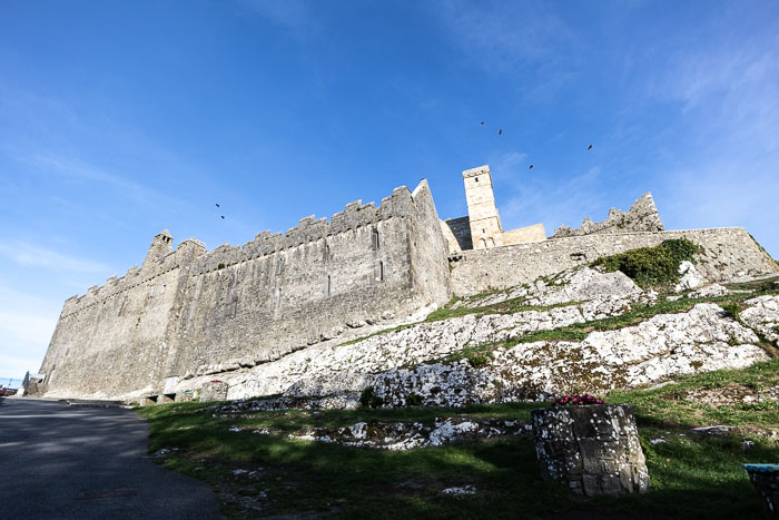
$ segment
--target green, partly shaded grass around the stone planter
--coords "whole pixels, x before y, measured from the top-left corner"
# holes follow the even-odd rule
[[[539,404],[512,403],[466,409],[246,412],[224,419],[198,413],[197,403],[140,409],[150,422],[149,451],[177,448],[159,460],[210,482],[224,511],[238,518],[325,513],[337,517],[412,518],[457,516],[542,517],[565,510],[653,512],[671,517],[760,518],[761,502],[741,462],[779,461],[779,443],[758,435],[779,428],[779,404],[710,406],[684,400],[692,389],[779,384],[779,360],[750,369],[688,377],[652,391],[612,392],[610,403],[633,406],[647,454],[652,489],[641,497],[582,501],[554,482],[542,482],[532,440],[516,436],[410,452],[290,440],[306,426],[346,426],[358,421],[432,421],[479,415],[527,421]],[[736,424],[723,436],[689,431],[693,425]],[[247,429],[230,432],[238,425]],[[268,435],[253,429],[268,429]],[[652,444],[663,436],[667,442]],[[756,447],[745,453],[741,441]],[[259,470],[255,478],[231,470]],[[446,487],[474,484],[471,497],[446,497]],[[262,493],[266,493],[265,497]],[[253,507],[260,508],[253,510]]]

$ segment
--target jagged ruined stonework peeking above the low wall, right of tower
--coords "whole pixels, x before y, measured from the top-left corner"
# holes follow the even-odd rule
[[[579,229],[560,226],[552,238],[604,233],[661,232],[663,229],[652,194],[647,193],[635,200],[628,212],[621,212],[612,207],[609,209],[609,216],[605,220],[593,223],[590,217],[586,217]]]

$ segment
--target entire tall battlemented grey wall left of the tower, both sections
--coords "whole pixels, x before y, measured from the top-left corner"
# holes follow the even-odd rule
[[[359,321],[445,303],[446,251],[426,181],[243,247],[205,254],[187,241],[160,255],[155,242],[159,259],[66,302],[41,370],[52,395],[155,394],[204,364],[277,359]]]

